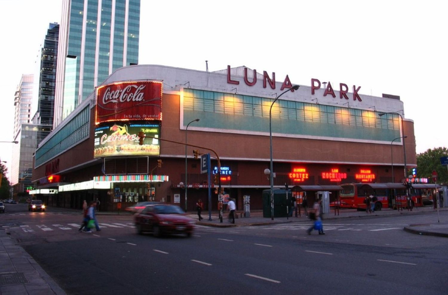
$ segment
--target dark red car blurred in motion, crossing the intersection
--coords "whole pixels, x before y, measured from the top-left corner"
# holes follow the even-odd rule
[[[145,209],[135,216],[137,233],[152,232],[156,237],[162,234],[186,234],[193,233],[196,223],[177,205],[154,204],[147,205]]]

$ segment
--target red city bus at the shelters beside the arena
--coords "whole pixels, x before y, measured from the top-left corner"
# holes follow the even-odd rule
[[[365,197],[376,197],[375,211],[383,208],[407,208],[406,202],[406,186],[402,183],[358,183],[358,184],[341,184],[343,190],[340,191],[339,201],[333,202],[331,205],[339,205],[340,208],[366,209],[364,203]],[[422,189],[420,186],[428,186],[429,184],[413,184],[410,189],[411,206],[422,206]]]

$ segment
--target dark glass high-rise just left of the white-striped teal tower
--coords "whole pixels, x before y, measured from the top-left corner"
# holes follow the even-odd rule
[[[33,124],[53,126],[58,38],[59,25],[50,23],[41,49],[38,106]]]

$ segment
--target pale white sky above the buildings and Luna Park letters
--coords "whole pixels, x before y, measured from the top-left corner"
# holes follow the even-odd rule
[[[22,74],[35,72],[61,4],[0,0],[0,141],[13,140],[14,92]],[[362,86],[360,94],[399,95],[419,154],[448,147],[447,10],[448,1],[435,0],[141,0],[138,63],[205,71],[208,60],[209,71],[244,65],[289,75],[293,84],[317,78]],[[12,145],[0,142],[9,171]]]

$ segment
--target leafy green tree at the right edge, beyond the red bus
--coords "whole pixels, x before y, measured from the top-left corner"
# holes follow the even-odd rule
[[[448,171],[446,166],[442,166],[440,158],[448,156],[446,147],[428,149],[426,152],[417,155],[417,177],[430,178],[433,170],[437,171],[437,183],[448,183]],[[430,180],[431,181],[431,180]]]

